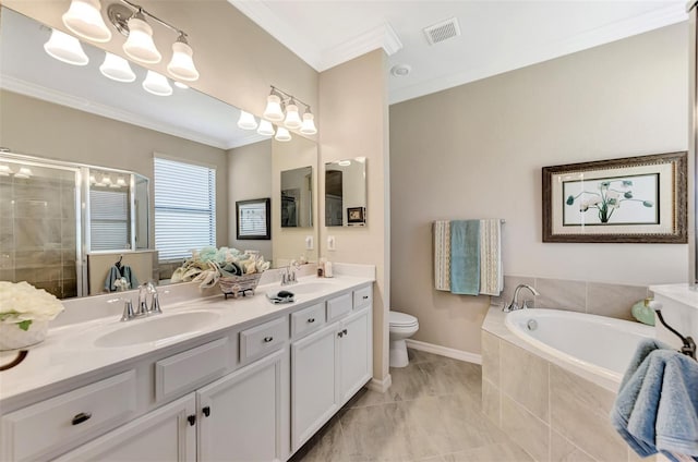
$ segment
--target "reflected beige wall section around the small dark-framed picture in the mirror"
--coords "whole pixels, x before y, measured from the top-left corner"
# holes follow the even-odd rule
[[[272,241],[238,241],[236,200],[272,198],[272,139],[228,150],[228,243],[239,250],[260,251],[272,260]],[[267,172],[255,174],[251,172]]]

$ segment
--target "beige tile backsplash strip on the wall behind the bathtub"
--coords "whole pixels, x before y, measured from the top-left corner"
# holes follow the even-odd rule
[[[633,304],[652,294],[646,285],[505,276],[504,291],[500,296],[492,297],[492,304],[504,306],[510,303],[518,284],[529,284],[540,293],[538,296],[528,291],[519,294],[522,295],[521,300],[533,301],[529,306],[568,309],[626,320],[634,319],[630,314]]]

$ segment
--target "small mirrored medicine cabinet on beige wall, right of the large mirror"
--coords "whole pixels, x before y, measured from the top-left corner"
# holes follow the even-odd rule
[[[325,163],[325,226],[366,224],[366,158]]]

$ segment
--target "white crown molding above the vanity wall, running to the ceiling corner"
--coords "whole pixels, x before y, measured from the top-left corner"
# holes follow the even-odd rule
[[[320,72],[321,52],[314,44],[300,36],[296,29],[281,21],[266,2],[256,0],[228,0],[228,3],[240,10],[267,34]]]

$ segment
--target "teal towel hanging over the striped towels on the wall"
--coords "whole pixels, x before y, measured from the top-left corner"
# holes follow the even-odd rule
[[[450,222],[450,292],[480,294],[480,220]]]

